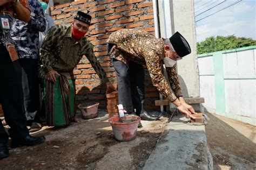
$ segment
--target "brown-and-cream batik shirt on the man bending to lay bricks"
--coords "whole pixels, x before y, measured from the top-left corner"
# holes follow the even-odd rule
[[[123,29],[112,33],[107,42],[115,44],[110,50],[112,58],[123,61],[128,67],[129,61],[146,65],[153,86],[157,87],[167,100],[173,102],[177,97],[183,96],[176,73],[176,65],[166,69],[171,88],[161,72],[164,39],[157,39],[146,31]]]

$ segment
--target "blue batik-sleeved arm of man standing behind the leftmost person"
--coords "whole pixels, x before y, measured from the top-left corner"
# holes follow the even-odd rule
[[[34,30],[43,32],[46,29],[44,10],[38,1],[31,5],[35,5],[33,6],[33,8],[35,9],[35,11],[33,11],[33,13],[35,13],[35,16],[31,16],[30,25]]]

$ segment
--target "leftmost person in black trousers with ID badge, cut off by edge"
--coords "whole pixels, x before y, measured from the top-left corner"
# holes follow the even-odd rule
[[[23,108],[21,66],[18,54],[10,39],[11,24],[14,17],[30,22],[30,10],[27,0],[0,1],[0,101],[6,123],[10,126],[11,147],[38,145],[44,137],[32,137],[26,128]],[[9,155],[8,134],[0,122],[0,159]]]

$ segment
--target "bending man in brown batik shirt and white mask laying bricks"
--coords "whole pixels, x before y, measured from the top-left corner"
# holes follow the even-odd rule
[[[185,102],[176,73],[177,60],[191,53],[181,34],[177,32],[170,39],[157,39],[146,31],[123,29],[112,33],[107,42],[117,73],[119,104],[124,105],[127,113],[132,114],[136,109],[138,116],[152,120],[144,110],[145,65],[153,86],[163,97],[176,105],[181,113],[194,118],[194,109]],[[171,88],[161,72],[164,63]]]

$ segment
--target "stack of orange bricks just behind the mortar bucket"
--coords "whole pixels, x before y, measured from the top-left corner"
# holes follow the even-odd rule
[[[107,98],[107,112],[109,114],[109,117],[112,117],[114,115],[118,115],[118,92],[113,91],[110,94],[106,94]]]

